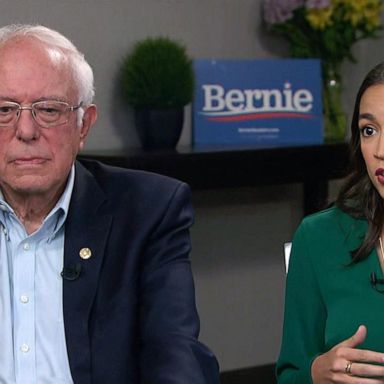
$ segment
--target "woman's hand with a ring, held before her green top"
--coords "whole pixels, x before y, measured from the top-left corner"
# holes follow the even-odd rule
[[[316,357],[311,367],[313,384],[383,384],[384,353],[356,348],[366,336],[366,327],[360,325],[352,337]]]

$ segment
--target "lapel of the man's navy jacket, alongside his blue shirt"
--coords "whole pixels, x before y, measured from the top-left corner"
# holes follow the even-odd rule
[[[65,224],[64,268],[81,266],[79,278],[63,279],[67,351],[73,381],[91,383],[89,316],[95,297],[112,216],[105,195],[92,174],[76,162],[75,185]],[[88,248],[91,256],[80,257]]]

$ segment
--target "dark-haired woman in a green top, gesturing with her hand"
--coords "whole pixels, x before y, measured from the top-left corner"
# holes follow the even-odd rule
[[[351,129],[336,203],[294,236],[279,384],[384,383],[384,63],[364,79]]]

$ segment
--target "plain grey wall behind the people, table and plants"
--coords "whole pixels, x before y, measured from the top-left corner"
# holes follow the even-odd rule
[[[1,1],[0,25],[42,23],[71,38],[93,65],[99,120],[86,150],[138,145],[129,107],[117,87],[119,63],[133,43],[168,35],[195,58],[265,58],[286,52],[261,27],[258,0]],[[383,59],[383,40],[355,47],[344,66],[344,103],[351,110],[365,72]],[[181,144],[190,143],[186,122]],[[301,216],[299,185],[195,193],[192,262],[202,339],[223,370],[273,362],[282,323],[282,244]]]

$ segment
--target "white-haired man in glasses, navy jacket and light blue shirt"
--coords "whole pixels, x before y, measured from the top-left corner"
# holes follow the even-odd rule
[[[0,383],[218,383],[197,341],[189,190],[75,160],[93,93],[64,36],[0,28]]]

